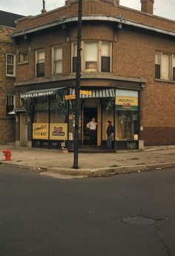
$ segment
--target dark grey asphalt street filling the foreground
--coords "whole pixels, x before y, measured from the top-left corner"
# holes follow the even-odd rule
[[[0,165],[0,256],[174,256],[175,169],[61,180]]]

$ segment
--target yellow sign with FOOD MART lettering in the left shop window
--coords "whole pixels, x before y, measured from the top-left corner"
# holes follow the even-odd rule
[[[33,123],[33,139],[48,140],[47,123]]]

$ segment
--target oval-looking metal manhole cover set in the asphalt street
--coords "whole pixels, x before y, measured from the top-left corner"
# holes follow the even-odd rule
[[[143,216],[128,216],[123,218],[122,222],[135,225],[153,225],[155,223],[155,220]]]

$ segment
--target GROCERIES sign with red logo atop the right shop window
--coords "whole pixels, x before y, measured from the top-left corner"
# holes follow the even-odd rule
[[[130,110],[136,111],[138,109],[137,96],[116,96],[116,109],[117,110]]]

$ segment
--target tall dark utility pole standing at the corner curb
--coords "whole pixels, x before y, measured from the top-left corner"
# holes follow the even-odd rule
[[[75,134],[73,168],[79,168],[79,112],[80,112],[80,77],[81,77],[81,39],[82,39],[82,0],[79,0],[77,26],[77,56],[76,56],[76,106],[75,106]]]

